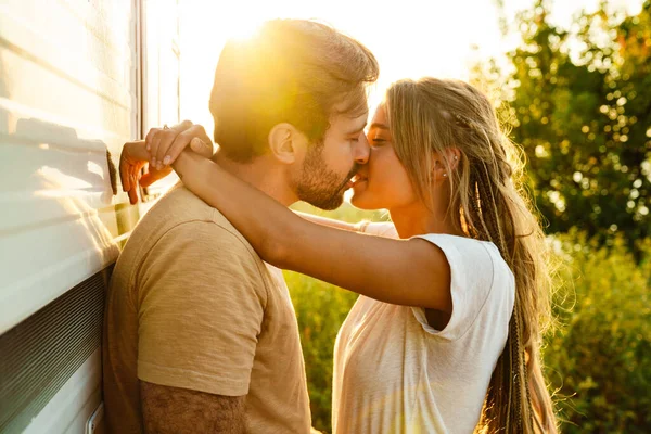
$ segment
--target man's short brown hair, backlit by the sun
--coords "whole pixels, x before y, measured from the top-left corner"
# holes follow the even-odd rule
[[[221,51],[210,94],[215,142],[239,162],[264,154],[280,123],[319,142],[332,115],[368,110],[367,86],[378,75],[365,46],[324,24],[266,22],[253,38],[231,39]]]

